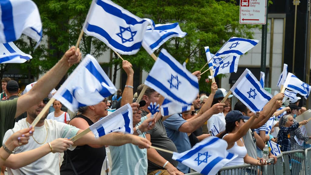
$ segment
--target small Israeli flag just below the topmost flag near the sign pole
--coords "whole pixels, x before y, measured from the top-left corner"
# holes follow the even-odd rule
[[[226,58],[222,59],[219,64],[214,65],[214,74],[216,77],[222,73],[232,73],[238,70],[240,56],[229,55]]]

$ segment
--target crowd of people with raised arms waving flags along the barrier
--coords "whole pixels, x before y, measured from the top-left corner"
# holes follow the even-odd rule
[[[296,97],[296,101],[291,101],[280,110],[283,93],[275,95],[262,111],[253,113],[242,102],[231,104],[232,95],[221,103],[227,92],[218,88],[216,83],[211,83],[209,96],[198,94],[189,111],[171,116],[155,114],[156,117],[151,118],[149,104],[161,104],[164,97],[150,87],[142,92],[146,86],[144,84],[133,92],[134,71],[132,64],[126,60],[122,62],[123,70],[127,73],[126,86],[123,92],[118,90],[111,102],[116,108],[127,103],[131,105],[133,135],[110,133],[95,139],[90,132],[75,142],[70,141],[70,138],[108,115],[108,98],[96,105],[80,107],[77,114],[63,111],[62,103],[56,100],[53,102],[54,111],[47,111],[32,127],[32,122],[53,95],[53,88],[70,65],[80,61],[81,53],[79,49],[74,49],[69,49],[48,73],[37,83],[28,86],[20,97],[18,83],[3,78],[4,92],[0,102],[2,173],[7,169],[8,174],[100,174],[106,157],[105,146],[109,146],[112,175],[182,175],[190,173],[191,168],[172,159],[172,154],[150,148],[150,145],[182,153],[211,136],[225,140],[227,151],[238,154],[225,166],[244,163],[266,165],[269,162],[262,160],[262,150],[269,140],[280,144],[282,151],[308,146],[301,146],[294,139],[295,136],[304,141],[311,138],[302,134],[299,128],[299,125],[305,125],[308,121],[295,121],[295,117],[306,108],[298,106],[299,98]],[[199,71],[193,74],[200,80]],[[141,96],[146,103],[136,103],[137,96]],[[270,131],[278,132],[277,137],[266,134],[270,117],[278,119],[280,115]],[[19,119],[15,120],[17,117]],[[273,154],[269,153],[269,158],[274,158],[276,163]]]

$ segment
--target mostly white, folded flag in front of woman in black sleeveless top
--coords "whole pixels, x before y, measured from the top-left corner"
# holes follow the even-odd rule
[[[133,111],[129,104],[120,107],[108,116],[90,126],[90,130],[99,138],[112,132],[133,134]]]

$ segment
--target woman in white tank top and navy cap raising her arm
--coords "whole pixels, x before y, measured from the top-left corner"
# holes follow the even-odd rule
[[[252,117],[244,116],[240,111],[230,111],[226,115],[226,134],[222,138],[228,143],[227,151],[229,153],[238,154],[238,157],[234,158],[225,166],[243,165],[244,163],[259,166],[267,164],[248,156],[242,139],[253,124],[255,118],[258,117],[259,112],[254,113]],[[248,121],[245,123],[244,120]]]

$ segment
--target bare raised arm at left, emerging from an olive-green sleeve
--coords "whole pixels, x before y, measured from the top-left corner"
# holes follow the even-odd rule
[[[43,100],[45,97],[48,97],[48,94],[55,86],[57,86],[57,84],[67,73],[71,65],[78,63],[80,60],[81,53],[79,48],[76,52],[75,47],[67,50],[67,52],[63,55],[62,59],[60,59],[58,63],[49,70],[49,72],[47,72],[42,78],[40,78],[29,92],[17,99],[15,118],[21,115],[31,106],[34,106],[35,104]]]

